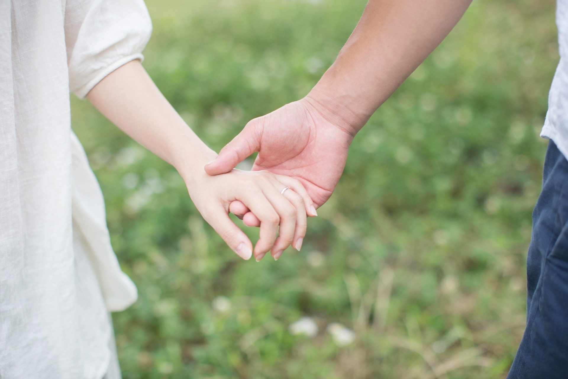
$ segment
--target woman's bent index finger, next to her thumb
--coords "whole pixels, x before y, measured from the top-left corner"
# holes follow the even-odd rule
[[[274,245],[280,218],[274,206],[268,201],[264,191],[260,188],[241,189],[238,195],[245,206],[260,219],[260,238],[254,245],[253,255],[256,260],[261,260]]]

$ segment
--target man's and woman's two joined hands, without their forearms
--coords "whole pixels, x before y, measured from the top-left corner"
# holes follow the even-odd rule
[[[270,251],[278,259],[289,245],[302,247],[307,215],[316,216],[333,193],[353,135],[336,114],[306,97],[251,120],[204,170],[178,170],[203,218],[237,255],[258,261]],[[234,169],[255,151],[252,171]],[[203,156],[214,153],[198,161]],[[229,212],[260,226],[254,251]]]

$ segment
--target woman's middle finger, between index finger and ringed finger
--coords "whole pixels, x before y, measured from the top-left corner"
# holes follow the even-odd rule
[[[292,205],[292,203],[290,203],[290,201],[281,193],[284,186],[277,182],[274,178],[271,178],[269,181],[269,186],[263,187],[262,193],[266,195],[266,198],[270,201],[280,216],[280,228],[278,230],[279,235],[272,247],[272,255],[274,256],[276,253],[281,255],[282,251],[284,251],[292,243],[294,239],[294,231],[296,229],[297,212],[294,205]],[[290,189],[287,191],[290,191]],[[302,209],[302,213],[306,213],[306,211]]]

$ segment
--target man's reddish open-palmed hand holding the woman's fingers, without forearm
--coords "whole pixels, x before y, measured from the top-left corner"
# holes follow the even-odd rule
[[[306,97],[251,120],[205,166],[205,171],[210,175],[229,172],[258,151],[253,170],[296,178],[319,207],[331,196],[343,173],[352,140],[353,135],[331,113]],[[233,202],[231,211],[243,215],[248,209]],[[307,209],[307,214],[315,216],[315,209]],[[243,220],[249,226],[258,226],[252,213]]]

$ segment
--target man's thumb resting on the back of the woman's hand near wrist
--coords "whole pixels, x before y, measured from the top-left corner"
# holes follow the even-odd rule
[[[219,155],[205,165],[205,172],[210,175],[224,174],[245,160],[249,155],[260,148],[260,135],[256,123],[252,121],[233,138],[231,142],[221,149]]]

